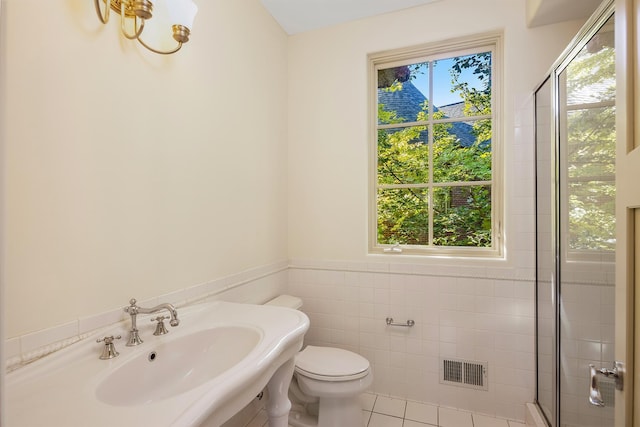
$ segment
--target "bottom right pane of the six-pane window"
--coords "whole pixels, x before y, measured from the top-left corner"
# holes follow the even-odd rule
[[[491,187],[437,187],[433,202],[433,244],[491,246]]]

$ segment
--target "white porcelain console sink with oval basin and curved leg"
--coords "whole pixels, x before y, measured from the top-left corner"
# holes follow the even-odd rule
[[[130,322],[122,322],[9,373],[7,425],[218,427],[267,386],[270,426],[286,427],[307,316],[223,301],[178,312],[180,325],[162,336],[139,315],[138,346],[125,346]],[[122,335],[120,355],[100,360],[96,338],[106,335]]]

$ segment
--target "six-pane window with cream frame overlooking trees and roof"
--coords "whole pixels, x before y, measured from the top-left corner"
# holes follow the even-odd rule
[[[502,254],[500,46],[370,55],[371,252]]]

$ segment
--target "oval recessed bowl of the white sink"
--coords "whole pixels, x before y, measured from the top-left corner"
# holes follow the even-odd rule
[[[96,390],[110,405],[132,406],[198,387],[233,367],[260,341],[259,330],[218,327],[162,341],[116,369]]]

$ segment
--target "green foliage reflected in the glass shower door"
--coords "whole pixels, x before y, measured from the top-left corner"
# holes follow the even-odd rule
[[[567,245],[615,250],[615,50],[598,34],[563,72],[566,83]]]

